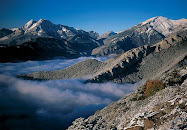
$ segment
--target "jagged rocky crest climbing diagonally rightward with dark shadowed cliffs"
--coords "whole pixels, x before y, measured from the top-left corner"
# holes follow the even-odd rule
[[[171,35],[169,38],[153,46],[145,45],[142,47],[129,50],[125,53],[122,53],[118,57],[115,57],[113,59],[110,59],[109,61],[106,61],[109,63],[108,66],[105,67],[105,69],[103,69],[102,71],[100,71],[99,74],[96,74],[96,76],[94,76],[91,79],[91,81],[101,82],[102,80],[113,80],[114,77],[119,76],[120,73],[124,73],[125,69],[128,70],[130,67],[142,62],[142,60],[146,56],[148,56],[150,53],[159,53],[161,50],[164,50],[164,49],[167,50],[168,48],[174,46],[176,43],[181,42],[182,40],[183,38],[179,35]],[[186,45],[184,46],[186,48]],[[184,55],[186,55],[185,50],[181,52],[184,52]],[[181,55],[178,55],[178,56],[181,56]],[[134,77],[134,79],[136,78]],[[117,82],[119,83],[119,81]]]

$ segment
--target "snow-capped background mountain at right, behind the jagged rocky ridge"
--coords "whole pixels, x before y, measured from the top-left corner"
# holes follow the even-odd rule
[[[92,55],[104,56],[122,53],[132,48],[153,45],[172,33],[187,29],[187,19],[170,20],[153,17],[120,33],[107,37],[104,45],[95,48]]]

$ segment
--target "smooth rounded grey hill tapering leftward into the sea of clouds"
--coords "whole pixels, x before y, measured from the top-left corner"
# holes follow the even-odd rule
[[[68,68],[57,71],[40,71],[30,74],[20,74],[19,77],[25,79],[34,80],[57,80],[68,78],[89,78],[98,70],[103,69],[105,63],[97,61],[95,59],[88,59],[83,62],[79,62]]]

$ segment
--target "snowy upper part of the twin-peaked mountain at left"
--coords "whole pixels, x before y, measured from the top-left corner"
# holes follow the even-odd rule
[[[17,34],[20,34],[20,31],[21,34],[32,35],[34,37],[54,37],[57,39],[66,39],[77,34],[89,35],[88,32],[85,32],[81,29],[64,26],[61,24],[57,25],[47,19],[40,19],[38,21],[32,19],[27,22],[23,27],[18,28],[16,30],[18,32]]]

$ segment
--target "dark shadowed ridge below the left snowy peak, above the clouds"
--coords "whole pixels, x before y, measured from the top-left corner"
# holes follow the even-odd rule
[[[79,57],[80,52],[72,48],[71,43],[64,39],[36,38],[20,45],[0,46],[0,61],[45,60],[57,56]]]

